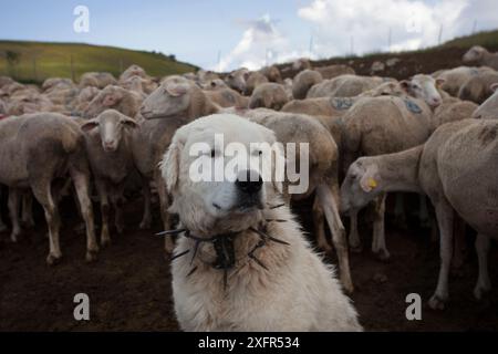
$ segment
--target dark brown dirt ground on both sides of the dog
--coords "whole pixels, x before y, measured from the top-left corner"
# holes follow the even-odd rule
[[[113,244],[100,253],[96,263],[84,262],[84,236],[73,228],[79,223],[74,209],[63,204],[64,229],[62,263],[50,268],[46,228],[37,210],[35,230],[27,231],[17,244],[0,243],[0,331],[175,331],[168,263],[164,260],[158,217],[155,228],[138,230],[142,202],[125,208],[127,229],[115,236]],[[310,201],[294,207],[307,230]],[[4,215],[4,214],[3,214]],[[363,219],[367,219],[365,214]],[[477,261],[469,236],[469,257],[450,279],[450,302],[444,312],[426,305],[438,273],[438,247],[430,242],[429,230],[417,228],[408,219],[408,229],[395,227],[387,216],[388,262],[378,261],[369,250],[371,229],[361,223],[365,246],[351,254],[356,291],[352,295],[362,324],[370,331],[475,331],[498,330],[498,296],[492,291],[484,301],[474,300]],[[310,232],[311,233],[311,232]],[[2,240],[8,235],[2,235]],[[309,235],[310,239],[313,239]],[[334,262],[334,257],[328,258]],[[498,279],[498,257],[491,248],[491,280]],[[495,281],[496,282],[496,281]],[[90,296],[91,321],[73,319],[73,296]],[[407,321],[405,296],[418,293],[423,299],[422,321]]]

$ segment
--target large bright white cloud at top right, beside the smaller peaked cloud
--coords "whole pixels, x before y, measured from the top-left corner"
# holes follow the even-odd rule
[[[298,15],[312,25],[315,51],[331,56],[435,45],[439,33],[442,40],[458,34],[458,21],[469,4],[470,0],[313,0]]]

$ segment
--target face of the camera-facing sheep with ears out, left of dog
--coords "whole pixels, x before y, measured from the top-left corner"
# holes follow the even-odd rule
[[[90,119],[83,124],[81,128],[87,134],[98,134],[104,152],[112,153],[120,147],[124,129],[136,128],[137,126],[135,121],[120,112],[107,110],[101,113],[96,118]],[[96,131],[96,128],[98,128],[98,131]]]

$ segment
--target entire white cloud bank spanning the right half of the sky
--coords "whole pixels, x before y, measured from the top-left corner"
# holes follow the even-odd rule
[[[473,30],[496,28],[496,0],[309,0],[294,11],[301,33],[311,28],[310,51],[280,32],[270,14],[245,21],[235,48],[214,70],[256,70],[297,58],[323,59],[346,54],[417,50],[437,45]],[[294,33],[295,34],[295,33]],[[295,43],[300,40],[300,43]]]

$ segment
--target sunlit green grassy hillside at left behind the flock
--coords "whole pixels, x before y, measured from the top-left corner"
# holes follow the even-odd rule
[[[77,81],[89,71],[107,71],[118,76],[131,64],[141,65],[153,76],[197,69],[162,53],[80,43],[0,41],[0,75],[24,82],[41,82],[53,76]]]

